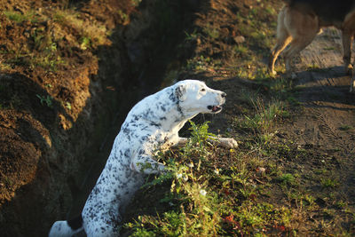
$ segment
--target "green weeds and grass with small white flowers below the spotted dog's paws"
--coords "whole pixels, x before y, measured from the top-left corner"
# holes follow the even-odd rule
[[[146,187],[159,186],[168,180],[170,194],[162,201],[169,202],[171,209],[157,216],[140,216],[125,224],[125,228],[133,231],[132,236],[256,235],[275,226],[288,232],[290,209],[256,201],[263,185],[255,183],[255,166],[264,163],[251,159],[255,166],[249,167],[250,163],[241,154],[231,150],[227,153],[233,163],[220,170],[211,169],[216,165],[211,160],[215,148],[207,139],[214,135],[208,132],[208,122],[201,126],[191,124],[192,138],[181,152],[160,157],[170,172],[146,184]],[[259,178],[264,180],[262,176]],[[285,179],[293,183],[288,175]]]

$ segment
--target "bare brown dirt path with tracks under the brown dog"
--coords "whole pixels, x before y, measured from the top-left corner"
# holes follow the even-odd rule
[[[344,74],[341,47],[340,32],[327,28],[301,52],[301,61],[296,63],[296,88],[300,89],[297,99],[303,103],[304,111],[286,130],[299,146],[312,146],[320,156],[332,157],[337,164],[331,169],[332,176],[339,180],[340,189],[353,204],[355,96],[349,92],[350,77]]]

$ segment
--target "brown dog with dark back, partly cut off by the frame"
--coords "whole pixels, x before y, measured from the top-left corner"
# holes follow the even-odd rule
[[[355,34],[355,0],[284,0],[279,13],[277,43],[269,59],[269,71],[276,75],[275,61],[284,52],[286,71],[291,71],[291,60],[312,43],[321,28],[334,26],[342,30],[343,62],[351,74],[351,91],[355,87],[355,69],[351,66],[351,43]],[[355,59],[354,59],[355,64]]]

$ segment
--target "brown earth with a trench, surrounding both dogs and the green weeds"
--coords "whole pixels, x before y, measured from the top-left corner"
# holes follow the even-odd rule
[[[286,231],[270,224],[264,235],[355,234],[355,94],[341,67],[341,37],[334,28],[317,36],[295,60],[296,79],[282,74],[282,59],[279,75],[270,77],[265,62],[281,6],[279,0],[1,2],[1,235],[46,236],[55,220],[80,213],[130,107],[185,78],[227,93],[222,113],[195,122],[210,121],[211,132],[240,141],[242,157],[270,160],[296,178],[286,191],[274,174],[259,180],[269,191],[253,201],[294,214]],[[250,118],[275,102],[282,115],[252,127]],[[186,129],[182,134],[189,136]],[[215,152],[222,154],[216,165],[227,167],[230,156]],[[289,195],[295,190],[312,195],[312,209],[298,206]],[[125,222],[169,209],[159,202],[166,192],[166,186],[140,191]]]

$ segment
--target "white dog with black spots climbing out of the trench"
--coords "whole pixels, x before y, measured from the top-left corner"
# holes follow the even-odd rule
[[[143,185],[147,174],[158,174],[164,165],[154,161],[159,150],[181,146],[178,137],[185,122],[199,113],[217,114],[225,103],[225,92],[205,83],[185,80],[156,92],[130,110],[82,215],[55,222],[50,236],[72,236],[84,229],[88,236],[118,236],[120,213]],[[236,147],[233,138],[218,138],[220,146]]]

